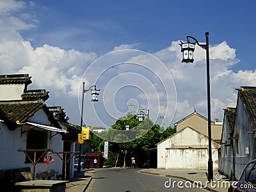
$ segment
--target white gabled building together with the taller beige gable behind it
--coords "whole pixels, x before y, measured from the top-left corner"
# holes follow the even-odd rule
[[[157,143],[157,168],[197,168],[208,166],[208,120],[196,113],[175,123],[177,133]],[[218,148],[220,148],[222,122],[211,122],[212,161],[218,170]]]

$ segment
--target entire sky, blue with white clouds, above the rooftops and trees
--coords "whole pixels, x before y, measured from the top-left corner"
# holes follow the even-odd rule
[[[192,4],[193,3],[193,4]],[[164,127],[193,113],[207,117],[205,50],[181,63],[179,42],[209,31],[211,118],[236,107],[241,86],[255,86],[256,1],[0,0],[0,72],[29,74],[80,124],[111,127],[128,111],[149,109]],[[147,111],[144,111],[147,113]],[[163,118],[159,118],[163,116]]]

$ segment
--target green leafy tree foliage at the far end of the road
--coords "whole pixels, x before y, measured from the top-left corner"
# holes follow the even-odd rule
[[[125,131],[125,125],[129,125],[128,133]],[[176,132],[175,127],[168,127],[162,133],[160,129],[163,127],[153,124],[147,117],[143,122],[139,122],[136,115],[128,113],[127,116],[118,118],[108,131],[100,132],[97,135],[91,133],[90,138],[94,151],[104,151],[104,140],[101,138],[113,141],[109,142],[109,158],[111,160],[108,161],[111,162],[111,165],[118,154],[120,155],[118,160],[122,159],[124,155],[127,156],[127,159],[134,156],[142,163],[147,159],[148,150],[156,151],[157,143]]]

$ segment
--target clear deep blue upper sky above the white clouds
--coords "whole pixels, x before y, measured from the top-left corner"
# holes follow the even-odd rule
[[[105,54],[113,46],[136,44],[140,50],[156,52],[172,40],[186,40],[186,35],[204,41],[209,31],[211,44],[225,40],[239,50],[237,58],[244,64],[236,70],[254,70],[250,60],[254,50],[248,49],[255,40],[254,1],[34,2],[28,12],[39,23],[35,30],[21,33],[35,38],[35,47],[47,43]]]

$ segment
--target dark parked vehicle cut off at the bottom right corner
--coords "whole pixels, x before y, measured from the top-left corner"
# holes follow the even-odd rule
[[[250,161],[237,182],[228,188],[228,192],[256,191],[256,159]]]

